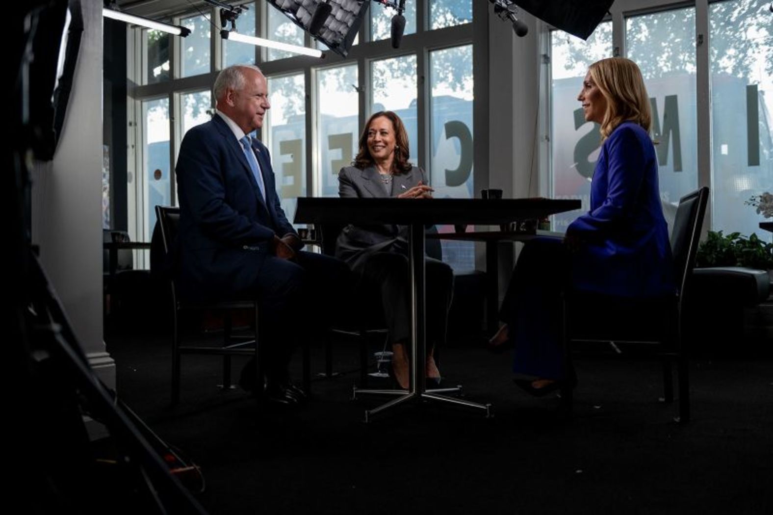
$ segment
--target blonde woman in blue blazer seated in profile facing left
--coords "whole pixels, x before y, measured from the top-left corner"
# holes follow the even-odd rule
[[[565,288],[631,298],[675,291],[641,71],[621,57],[593,63],[577,100],[585,121],[601,125],[591,210],[570,224],[563,240],[540,237],[523,247],[502,302],[505,323],[490,341],[494,348],[512,343],[513,371],[528,377],[516,383],[535,395],[574,381],[560,348]]]

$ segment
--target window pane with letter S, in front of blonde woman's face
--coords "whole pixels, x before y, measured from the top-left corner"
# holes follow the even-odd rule
[[[591,203],[591,182],[601,146],[599,125],[586,122],[577,94],[587,68],[612,56],[612,22],[603,22],[587,41],[560,30],[550,32],[550,142],[552,193],[557,199],[580,199],[582,211],[560,213],[551,228],[563,232]]]

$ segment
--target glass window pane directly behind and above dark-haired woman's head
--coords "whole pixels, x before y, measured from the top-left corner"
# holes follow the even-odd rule
[[[370,112],[394,111],[403,120],[408,132],[408,160],[418,165],[416,56],[373,61],[370,64],[370,77]]]

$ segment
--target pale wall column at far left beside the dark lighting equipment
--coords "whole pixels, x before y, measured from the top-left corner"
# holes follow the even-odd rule
[[[92,367],[115,387],[102,339],[102,2],[81,0],[83,36],[53,161],[32,169],[32,243]]]

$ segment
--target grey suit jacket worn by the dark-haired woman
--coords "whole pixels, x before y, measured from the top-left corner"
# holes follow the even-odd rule
[[[427,174],[414,166],[410,172],[393,176],[390,193],[381,182],[374,166],[359,169],[346,166],[339,172],[339,196],[342,198],[384,198],[398,196],[421,181],[428,184]],[[366,258],[376,252],[407,252],[408,227],[404,225],[347,225],[335,242],[335,256],[357,270]]]

